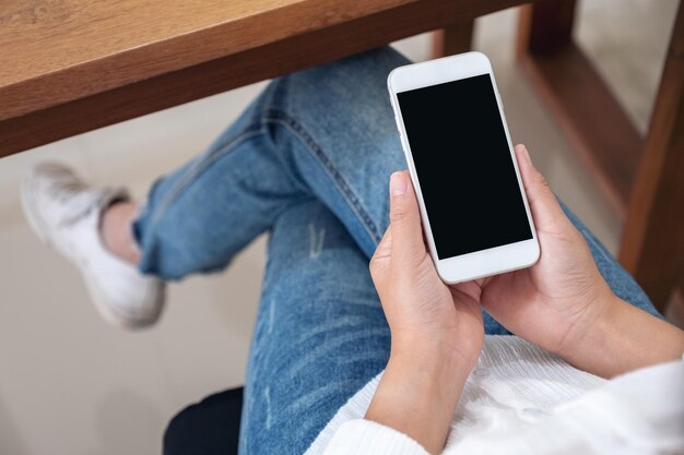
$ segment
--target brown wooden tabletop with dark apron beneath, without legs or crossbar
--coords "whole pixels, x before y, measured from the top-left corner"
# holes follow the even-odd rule
[[[520,0],[4,0],[0,156]]]

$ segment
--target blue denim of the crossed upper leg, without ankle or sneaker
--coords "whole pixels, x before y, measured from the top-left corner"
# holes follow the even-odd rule
[[[274,81],[210,149],[162,179],[138,221],[141,268],[165,278],[225,266],[287,204],[312,195],[369,258],[387,228],[389,175],[405,168],[386,88],[409,61],[390,48]],[[648,298],[586,228],[601,273],[622,298]],[[491,333],[506,333],[486,318]]]

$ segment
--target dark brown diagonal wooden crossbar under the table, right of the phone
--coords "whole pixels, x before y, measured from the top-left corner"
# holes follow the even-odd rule
[[[553,27],[546,24],[538,31],[532,22],[536,7],[522,9],[519,60],[615,212],[624,216],[644,141],[591,61],[570,39],[567,11],[558,19],[561,37],[553,38]]]

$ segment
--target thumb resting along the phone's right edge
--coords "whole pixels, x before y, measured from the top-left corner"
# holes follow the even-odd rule
[[[544,176],[532,164],[530,153],[524,145],[516,145],[516,156],[536,229],[554,230],[559,223],[567,219],[558,200],[551,191]]]

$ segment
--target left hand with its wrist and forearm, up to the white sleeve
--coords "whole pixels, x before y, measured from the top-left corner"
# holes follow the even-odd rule
[[[370,274],[391,330],[390,359],[366,419],[440,453],[484,338],[480,288],[449,288],[423,239],[409,172],[390,182],[390,226]]]

